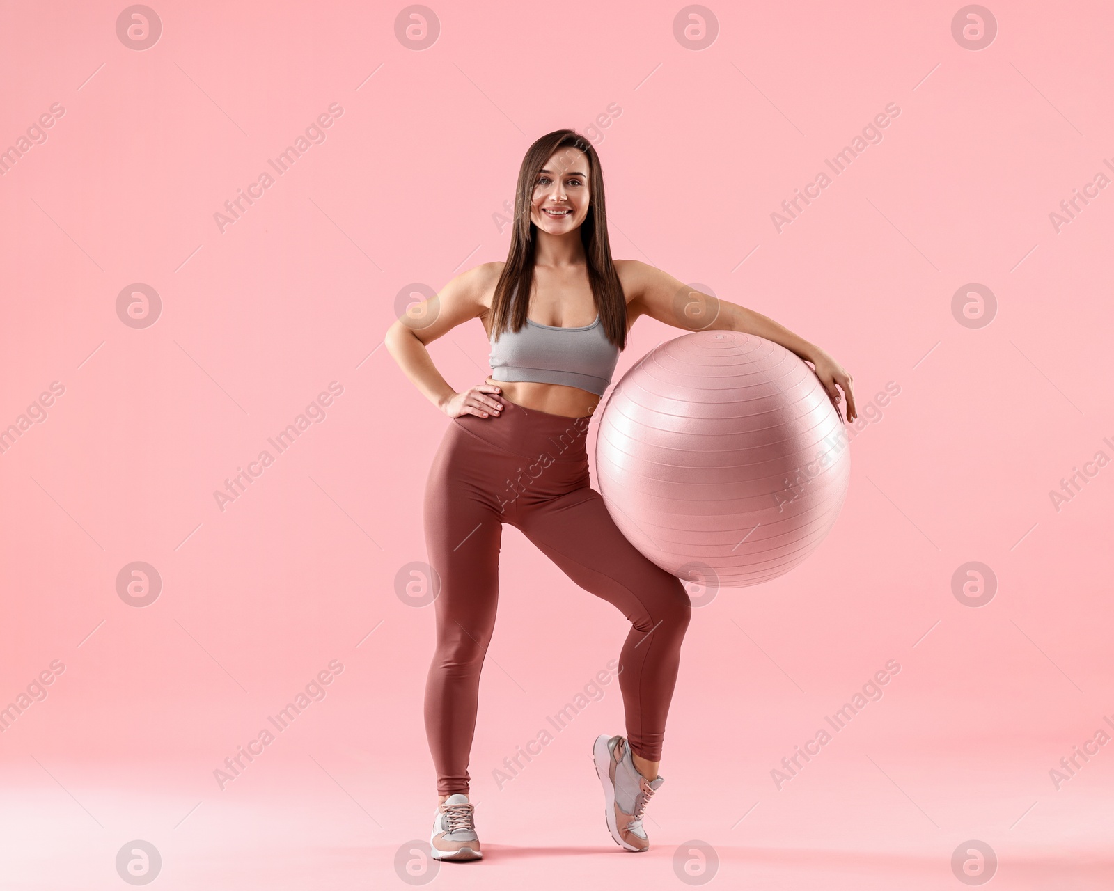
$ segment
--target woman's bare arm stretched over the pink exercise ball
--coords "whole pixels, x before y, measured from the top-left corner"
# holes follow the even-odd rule
[[[648,315],[658,322],[685,331],[741,331],[779,343],[812,363],[820,383],[823,384],[833,404],[840,401],[837,384],[842,388],[847,393],[847,420],[853,421],[858,417],[851,375],[814,343],[794,334],[762,313],[693,291],[684,282],[646,263],[626,261],[624,266],[625,272],[629,271],[628,281],[634,285],[635,296],[627,304],[627,319],[631,324],[634,324],[634,320],[639,315]],[[838,409],[837,404],[837,411]]]

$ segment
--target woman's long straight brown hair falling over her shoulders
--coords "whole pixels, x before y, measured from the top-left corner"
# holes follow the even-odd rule
[[[515,189],[515,225],[510,232],[510,249],[502,274],[491,298],[491,334],[508,327],[518,331],[526,324],[529,297],[534,284],[534,248],[537,227],[530,221],[534,184],[546,161],[565,146],[578,148],[588,156],[588,214],[580,224],[580,241],[587,258],[588,283],[599,312],[599,323],[607,340],[619,350],[626,346],[626,297],[618,273],[612,262],[607,241],[607,203],[604,199],[604,174],[595,147],[576,130],[554,130],[537,139],[522,157]],[[559,173],[558,173],[559,175]],[[525,298],[516,300],[516,294]]]

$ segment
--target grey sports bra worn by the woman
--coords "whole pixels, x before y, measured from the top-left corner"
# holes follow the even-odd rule
[[[579,386],[602,396],[619,361],[618,347],[607,340],[599,314],[590,325],[559,327],[529,319],[518,331],[491,340],[491,378]]]

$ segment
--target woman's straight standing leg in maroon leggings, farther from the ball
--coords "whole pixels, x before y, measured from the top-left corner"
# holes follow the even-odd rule
[[[495,629],[502,513],[490,492],[500,458],[450,424],[426,482],[424,528],[440,579],[437,648],[426,683],[426,734],[441,800],[468,794],[480,669]]]

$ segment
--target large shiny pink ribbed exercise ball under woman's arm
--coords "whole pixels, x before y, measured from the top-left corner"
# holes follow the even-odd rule
[[[772,341],[702,331],[663,343],[615,385],[596,477],[653,562],[721,587],[801,564],[836,523],[851,476],[843,424],[815,373]],[[692,578],[697,578],[693,576]]]

